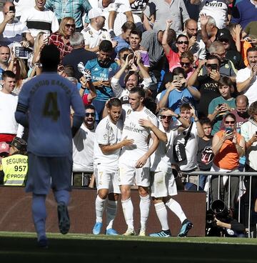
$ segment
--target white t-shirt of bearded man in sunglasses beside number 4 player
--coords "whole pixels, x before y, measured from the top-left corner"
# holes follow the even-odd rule
[[[93,170],[95,129],[82,124],[73,139],[73,169]]]

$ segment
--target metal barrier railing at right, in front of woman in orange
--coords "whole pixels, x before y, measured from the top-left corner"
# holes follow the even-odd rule
[[[215,175],[218,176],[218,199],[220,198],[220,192],[221,192],[221,177],[227,176],[228,177],[228,208],[231,208],[231,177],[239,177],[239,184],[238,187],[242,185],[242,180],[243,177],[249,177],[250,182],[249,182],[249,187],[246,189],[248,191],[248,237],[251,237],[251,189],[252,189],[252,177],[257,177],[257,172],[206,172],[206,171],[194,171],[194,172],[183,172],[183,175],[187,176],[187,179],[189,179],[190,176],[197,176],[197,190],[199,189],[199,176],[200,175]],[[208,191],[206,193],[206,199],[207,199],[207,208],[209,209],[210,204],[210,186],[208,187]],[[242,189],[241,189],[242,190]],[[240,191],[240,189],[239,189]],[[238,222],[241,222],[241,197],[238,197]],[[257,226],[256,226],[257,227]]]

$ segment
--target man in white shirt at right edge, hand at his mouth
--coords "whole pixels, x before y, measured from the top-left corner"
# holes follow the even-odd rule
[[[236,87],[238,92],[247,96],[249,105],[257,100],[257,48],[250,47],[246,51],[248,66],[238,70]]]

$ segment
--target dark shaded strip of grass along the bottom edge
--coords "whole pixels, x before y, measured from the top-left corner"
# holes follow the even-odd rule
[[[49,249],[36,239],[1,237],[1,262],[257,262],[256,245],[143,242],[101,239],[49,239]],[[54,260],[54,261],[52,261]]]

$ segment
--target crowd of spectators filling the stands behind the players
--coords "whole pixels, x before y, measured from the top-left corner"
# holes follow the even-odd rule
[[[169,160],[174,175],[197,170],[257,172],[256,7],[256,0],[4,2],[0,142],[26,140],[26,129],[14,118],[19,92],[25,81],[41,74],[41,49],[54,44],[60,51],[59,74],[74,82],[86,109],[74,137],[74,169],[88,172],[84,186],[95,187],[94,135],[106,102],[120,99],[128,114],[129,94],[136,87],[145,91],[143,104],[159,119],[168,108],[171,124],[181,124],[174,113],[188,121],[172,142],[185,144],[186,138],[186,159]],[[8,151],[0,149],[1,156]],[[219,179],[199,172],[199,180],[179,178],[178,188],[195,189],[192,186],[198,184],[200,190],[210,189],[211,202],[223,199],[232,211],[243,189],[245,207],[251,205],[254,214],[255,178],[251,204],[247,176],[239,187],[239,177]],[[76,174],[74,184],[78,180]],[[248,213],[241,217],[247,224]]]

